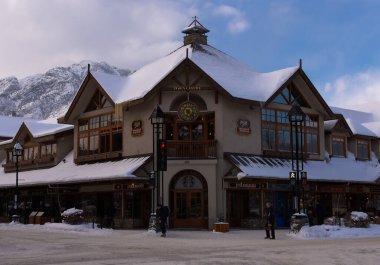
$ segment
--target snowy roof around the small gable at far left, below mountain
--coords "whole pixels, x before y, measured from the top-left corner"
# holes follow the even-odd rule
[[[59,124],[56,121],[51,120],[32,120],[6,116],[0,116],[0,124],[0,136],[12,137],[10,140],[0,142],[0,146],[12,143],[13,138],[20,130],[22,124],[25,124],[34,138],[57,134],[74,128],[74,125]]]

